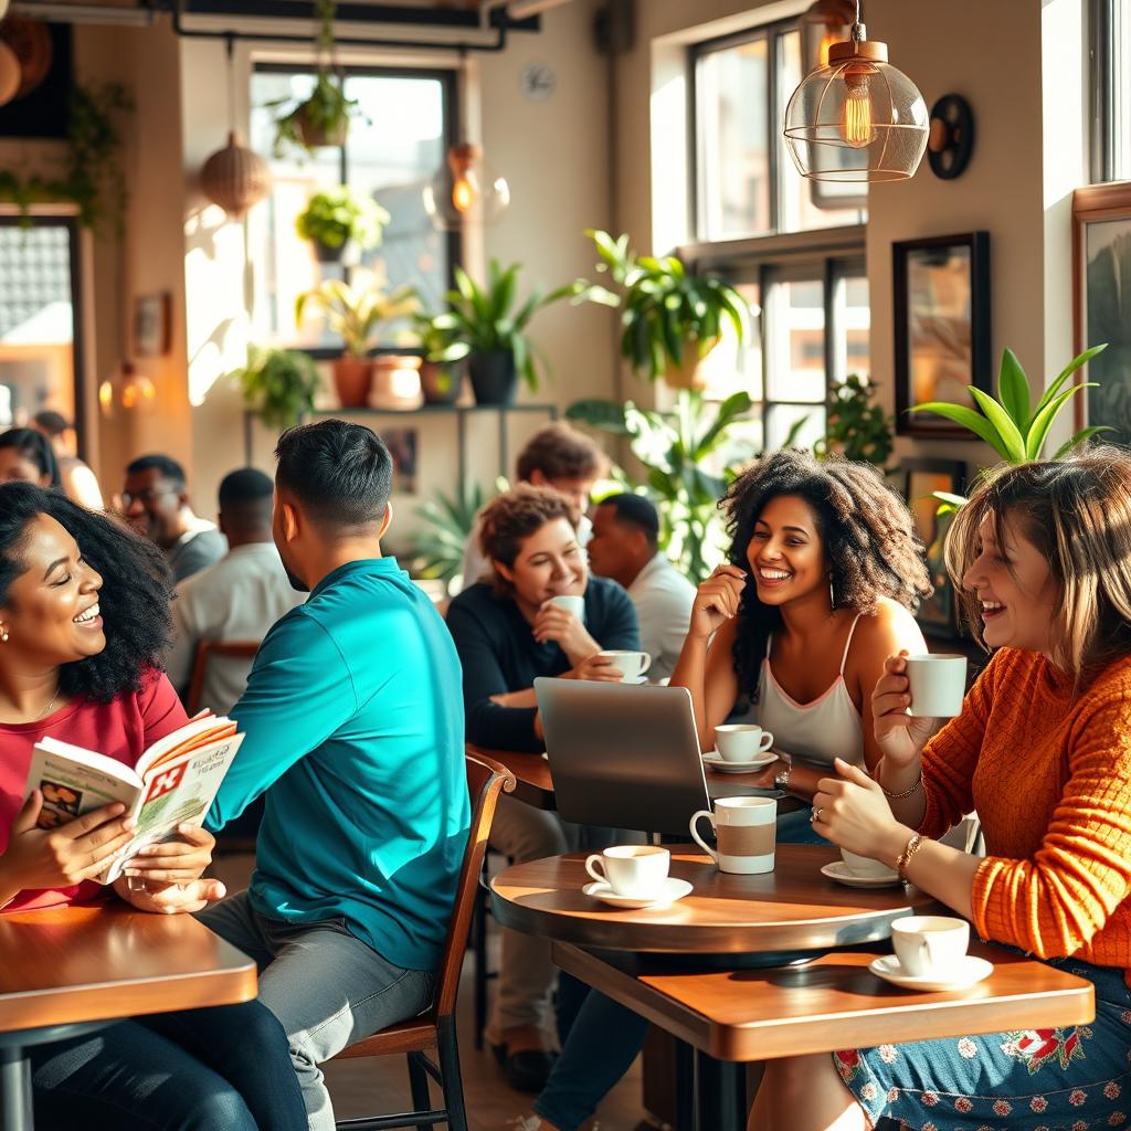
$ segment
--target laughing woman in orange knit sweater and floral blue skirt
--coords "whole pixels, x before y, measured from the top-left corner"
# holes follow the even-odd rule
[[[896,866],[983,939],[1088,978],[1096,1020],[771,1061],[758,1131],[1089,1131],[1131,1122],[1131,458],[993,473],[947,567],[995,655],[934,737],[903,656],[872,699],[874,780],[844,762],[814,827]],[[987,855],[934,838],[964,812]]]

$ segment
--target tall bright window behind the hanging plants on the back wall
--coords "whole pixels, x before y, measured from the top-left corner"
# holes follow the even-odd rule
[[[413,285],[422,303],[437,310],[459,248],[458,235],[433,228],[422,200],[454,140],[454,72],[349,68],[344,81],[346,97],[355,98],[363,114],[352,121],[346,144],[318,149],[305,159],[293,152],[275,158],[279,110],[269,104],[303,98],[314,76],[274,64],[259,66],[251,76],[251,146],[270,161],[275,179],[270,199],[249,219],[252,330],[259,342],[300,346],[316,355],[338,353],[340,342],[314,319],[295,325],[294,303],[303,291],[323,278],[363,279],[373,273],[389,287]],[[391,217],[380,247],[354,264],[319,262],[294,227],[312,192],[338,184],[372,196]],[[381,344],[394,344],[396,331],[391,327]]]

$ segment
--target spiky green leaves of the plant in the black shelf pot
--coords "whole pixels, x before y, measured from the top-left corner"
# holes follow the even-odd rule
[[[535,286],[520,303],[518,273],[521,264],[501,267],[498,259],[487,266],[487,280],[480,286],[461,267],[457,267],[456,290],[449,291],[450,310],[433,318],[433,326],[451,335],[452,342],[464,342],[472,354],[510,353],[515,368],[529,388],[537,389],[534,346],[526,327],[539,310],[570,299],[576,304],[586,301],[590,290],[584,279],[567,283],[549,294]],[[545,360],[541,359],[545,364]]]

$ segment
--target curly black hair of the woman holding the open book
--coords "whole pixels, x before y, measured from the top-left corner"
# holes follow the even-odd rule
[[[0,608],[11,582],[25,570],[23,542],[28,524],[50,515],[78,543],[83,556],[102,575],[106,647],[97,656],[64,664],[63,694],[110,702],[127,691],[140,691],[144,673],[163,667],[173,621],[172,579],[156,546],[104,515],[71,502],[58,491],[29,483],[0,484]]]

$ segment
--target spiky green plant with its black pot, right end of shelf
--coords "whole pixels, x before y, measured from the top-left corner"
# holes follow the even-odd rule
[[[461,268],[456,268],[456,287],[447,295],[451,308],[437,314],[434,325],[451,334],[452,339],[467,344],[467,369],[480,405],[509,405],[515,399],[518,375],[527,386],[538,387],[534,362],[534,347],[525,330],[530,319],[551,303],[561,299],[584,302],[598,297],[584,279],[576,279],[543,295],[534,287],[519,305],[516,293],[520,264],[506,269],[492,259],[487,268],[486,286],[481,287]]]

